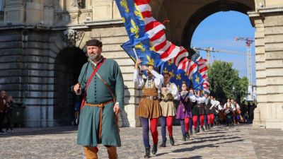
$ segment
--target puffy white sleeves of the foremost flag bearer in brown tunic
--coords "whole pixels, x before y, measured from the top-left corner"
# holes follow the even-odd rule
[[[154,83],[156,88],[162,88],[162,83],[164,81],[163,76],[154,70],[152,70],[151,73],[154,75]],[[142,78],[142,76],[139,76],[138,69],[134,69],[134,83],[137,83],[137,86],[139,86],[139,88],[142,88],[144,86],[144,78]]]

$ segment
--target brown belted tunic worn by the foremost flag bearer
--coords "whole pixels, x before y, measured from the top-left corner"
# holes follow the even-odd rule
[[[146,84],[147,82],[144,85]],[[142,89],[142,96],[158,97],[158,88],[156,88],[155,83],[151,87],[144,86]],[[139,107],[137,107],[137,116],[149,119],[160,117],[161,107],[159,105],[158,98],[156,100],[141,98],[139,101]]]

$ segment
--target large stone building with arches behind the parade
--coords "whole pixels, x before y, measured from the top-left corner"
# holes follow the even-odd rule
[[[86,62],[85,42],[101,39],[103,56],[115,59],[125,79],[122,126],[135,116],[141,92],[132,82],[133,61],[120,45],[128,40],[113,0],[0,0],[0,90],[25,102],[25,126],[71,124],[76,83]],[[239,11],[256,28],[258,108],[254,126],[283,129],[283,1],[151,0],[154,17],[170,20],[169,40],[190,46],[204,18]],[[241,23],[241,22],[239,22]]]

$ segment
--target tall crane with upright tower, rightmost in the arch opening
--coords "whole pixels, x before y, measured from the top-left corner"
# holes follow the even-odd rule
[[[246,48],[247,48],[247,67],[248,67],[248,86],[251,86],[252,84],[252,58],[251,58],[251,49],[250,49],[250,45],[253,44],[253,42],[255,42],[255,40],[253,40],[250,37],[235,37],[235,41],[246,41]]]

